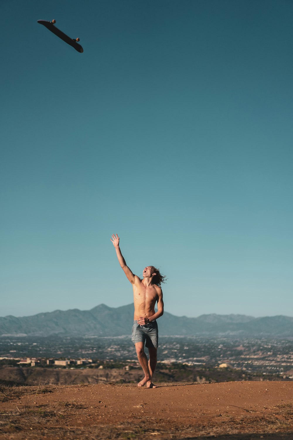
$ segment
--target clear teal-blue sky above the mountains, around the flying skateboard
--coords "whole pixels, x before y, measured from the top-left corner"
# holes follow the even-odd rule
[[[291,315],[293,4],[1,2],[0,315]],[[56,19],[83,54],[38,19]]]

